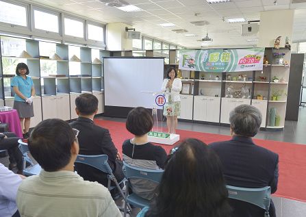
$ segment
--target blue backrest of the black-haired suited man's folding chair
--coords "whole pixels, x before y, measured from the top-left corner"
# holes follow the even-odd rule
[[[110,168],[107,160],[107,155],[77,155],[75,163],[86,164],[112,175],[112,168]]]

